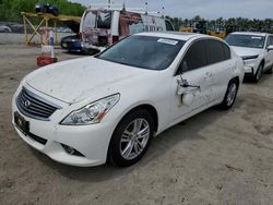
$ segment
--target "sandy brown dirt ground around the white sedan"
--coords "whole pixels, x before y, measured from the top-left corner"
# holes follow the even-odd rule
[[[165,131],[132,167],[78,168],[28,147],[12,128],[12,95],[38,53],[0,45],[0,204],[273,203],[273,75],[244,83],[232,110],[212,108]]]

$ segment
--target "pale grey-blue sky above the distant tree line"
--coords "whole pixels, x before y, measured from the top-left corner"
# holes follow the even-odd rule
[[[84,5],[107,3],[108,0],[70,0]],[[126,2],[127,8],[145,8],[151,12],[162,11],[171,17],[204,19],[248,17],[273,19],[273,0],[111,0],[115,4]]]

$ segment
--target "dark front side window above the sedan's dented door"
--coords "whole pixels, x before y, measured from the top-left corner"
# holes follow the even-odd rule
[[[181,64],[179,65],[179,73],[199,69],[207,64],[205,40],[199,40],[193,43],[188,49]]]

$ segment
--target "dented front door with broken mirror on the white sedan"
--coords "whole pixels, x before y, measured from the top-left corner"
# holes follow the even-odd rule
[[[181,119],[210,104],[213,75],[207,61],[205,39],[191,44],[173,79],[171,116]]]

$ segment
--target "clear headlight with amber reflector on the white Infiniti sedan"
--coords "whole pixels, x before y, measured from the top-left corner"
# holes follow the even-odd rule
[[[61,124],[83,125],[98,123],[105,114],[118,102],[119,94],[111,95],[92,102],[80,110],[72,111]]]

